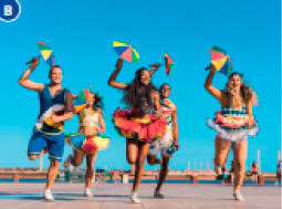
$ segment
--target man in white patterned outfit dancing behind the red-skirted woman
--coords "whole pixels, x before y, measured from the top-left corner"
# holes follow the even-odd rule
[[[160,108],[163,112],[163,116],[165,116],[167,121],[166,135],[163,138],[155,140],[150,144],[147,156],[147,161],[150,166],[154,166],[156,164],[161,165],[157,188],[154,192],[155,198],[164,198],[164,195],[160,194],[160,187],[163,186],[168,173],[169,158],[173,157],[175,150],[178,149],[177,107],[168,98],[171,93],[170,86],[166,83],[163,84],[160,86],[159,93]],[[161,159],[156,158],[159,150],[161,153]]]

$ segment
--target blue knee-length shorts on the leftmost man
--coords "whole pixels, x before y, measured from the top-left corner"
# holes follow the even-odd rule
[[[61,161],[64,151],[64,134],[45,135],[33,129],[29,143],[28,156],[39,156],[44,147],[49,148],[49,159]]]

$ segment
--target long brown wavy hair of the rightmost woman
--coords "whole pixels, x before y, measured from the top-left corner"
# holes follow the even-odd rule
[[[228,83],[226,85],[226,94],[227,94],[227,96],[229,98],[232,97],[232,88],[229,86],[229,81],[234,75],[240,76],[241,77],[241,82],[242,82],[242,75],[240,75],[237,72],[231,73],[228,76]],[[240,93],[241,93],[241,95],[243,97],[244,103],[249,103],[250,101],[252,101],[253,104],[258,105],[259,100],[258,100],[254,91],[247,83],[242,82],[242,85],[240,86]]]

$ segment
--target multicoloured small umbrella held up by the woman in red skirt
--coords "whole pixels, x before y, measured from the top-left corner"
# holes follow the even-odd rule
[[[138,62],[139,55],[130,44],[126,42],[114,41],[113,48],[121,59],[124,59],[129,63]]]

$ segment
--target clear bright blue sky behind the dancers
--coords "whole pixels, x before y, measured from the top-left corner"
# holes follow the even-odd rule
[[[164,52],[175,62],[170,77],[164,66],[153,77],[157,86],[165,82],[171,85],[171,101],[178,106],[180,149],[170,168],[186,169],[189,161],[191,167],[194,163],[198,168],[200,163],[203,167],[207,163],[212,166],[216,133],[206,126],[206,118],[212,118],[220,105],[205,91],[203,83],[209,50],[218,45],[229,53],[234,71],[244,73],[261,101],[253,109],[260,133],[249,139],[247,165],[257,159],[259,149],[262,169],[275,171],[281,150],[280,1],[21,0],[20,3],[22,13],[17,21],[0,22],[0,167],[39,166],[39,160],[29,161],[27,157],[39,98],[35,92],[22,88],[18,79],[27,70],[25,62],[39,55],[36,42],[42,41],[54,50],[56,64],[63,67],[63,86],[77,94],[92,83],[94,91],[104,96],[111,146],[98,154],[96,167],[129,168],[125,139],[116,134],[111,116],[123,94],[107,86],[118,59],[112,49],[113,41],[124,40],[135,46],[140,59],[138,64],[124,63],[117,76],[121,82],[130,82],[140,66],[164,62]],[[48,83],[48,72],[42,59],[30,79]],[[213,84],[223,88],[226,82],[224,75],[217,74]],[[65,130],[77,127],[74,117],[66,123]],[[64,158],[71,151],[66,145]],[[230,153],[228,165],[231,159]]]

